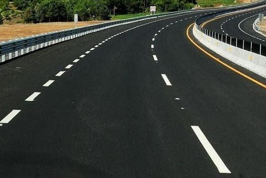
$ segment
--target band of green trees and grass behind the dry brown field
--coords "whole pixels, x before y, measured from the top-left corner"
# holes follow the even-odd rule
[[[12,2],[13,1],[13,2]],[[133,18],[149,14],[149,7],[171,12],[191,9],[195,0],[0,0],[0,14],[5,20],[21,16],[22,22],[66,22]],[[140,14],[143,13],[143,14]],[[126,15],[126,16],[118,16]]]

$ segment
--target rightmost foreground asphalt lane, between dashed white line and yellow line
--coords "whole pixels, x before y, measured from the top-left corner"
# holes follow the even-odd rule
[[[178,98],[175,107],[183,108],[177,122],[186,120],[190,126],[199,126],[231,172],[210,176],[208,170],[205,177],[266,177],[266,89],[196,49],[187,40],[184,27],[188,25],[178,23],[162,31],[156,37],[154,52],[160,72],[171,82],[169,93]],[[182,33],[177,35],[176,31]],[[222,60],[266,83],[264,78]],[[199,144],[199,150],[192,148],[195,160],[200,160],[197,170],[213,168],[199,141],[194,138],[193,142]]]

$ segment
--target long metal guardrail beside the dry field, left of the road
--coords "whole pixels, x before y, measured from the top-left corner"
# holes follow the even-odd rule
[[[31,51],[49,46],[49,45],[54,45],[60,42],[71,40],[73,38],[87,35],[89,33],[94,33],[94,32],[104,30],[107,28],[112,28],[114,26],[133,23],[133,22],[139,22],[139,21],[153,19],[157,17],[170,16],[174,14],[182,14],[182,13],[186,13],[189,11],[191,10],[155,14],[155,15],[149,15],[149,16],[144,16],[144,17],[139,17],[139,18],[114,21],[114,22],[105,22],[105,23],[101,23],[97,25],[90,25],[90,26],[79,27],[79,28],[74,28],[74,29],[62,30],[58,32],[51,32],[48,34],[36,35],[33,37],[27,37],[24,39],[4,42],[0,44],[0,63],[10,60],[12,58],[16,58],[18,56],[24,55]]]

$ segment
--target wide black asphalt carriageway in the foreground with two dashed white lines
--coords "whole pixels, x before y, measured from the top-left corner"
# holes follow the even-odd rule
[[[114,27],[0,65],[1,177],[266,177],[266,89],[188,40],[205,13]]]

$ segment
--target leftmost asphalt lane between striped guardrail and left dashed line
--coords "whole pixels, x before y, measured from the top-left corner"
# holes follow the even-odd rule
[[[157,19],[127,26],[118,26],[111,30],[103,30],[87,35],[84,38],[53,45],[45,50],[39,50],[16,59],[12,63],[1,65],[0,101],[4,102],[0,102],[0,116],[3,117],[13,108],[19,107],[20,103],[33,93],[34,90],[44,85],[48,80],[51,80],[51,76],[54,77],[60,70],[66,70],[65,67],[69,63],[72,63],[74,59],[79,58],[81,54],[89,51],[98,43],[124,30],[155,20]]]

